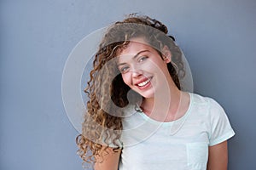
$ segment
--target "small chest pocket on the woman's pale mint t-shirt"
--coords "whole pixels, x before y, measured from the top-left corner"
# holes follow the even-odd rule
[[[207,143],[186,144],[188,166],[191,170],[206,170],[208,160]]]

